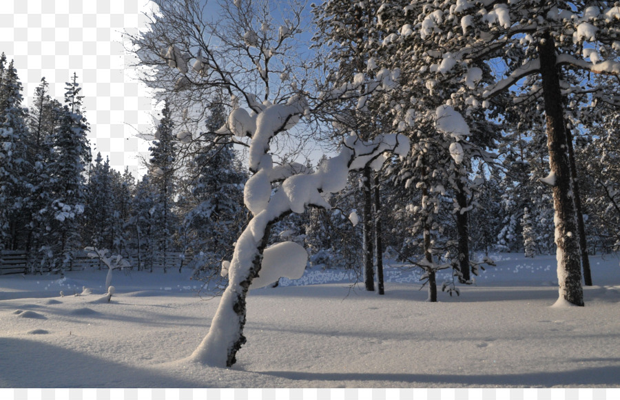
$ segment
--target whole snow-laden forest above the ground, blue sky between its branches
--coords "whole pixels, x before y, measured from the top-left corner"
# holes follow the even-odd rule
[[[42,79],[26,108],[0,58],[0,250],[30,273],[63,274],[88,246],[137,270],[180,252],[229,279],[234,344],[211,354],[213,334],[193,357],[231,366],[249,286],[284,276],[270,251],[379,293],[383,260],[406,262],[429,301],[475,283],[490,252],[557,254],[577,306],[588,257],[617,252],[617,3],[236,0],[216,20],[152,3],[127,49],[164,104],[143,177],[91,154],[79,77],[63,103]]]

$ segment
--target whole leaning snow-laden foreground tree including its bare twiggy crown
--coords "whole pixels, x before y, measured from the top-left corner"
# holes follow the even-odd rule
[[[338,82],[311,95],[309,71],[296,54],[303,5],[281,7],[282,19],[272,17],[269,1],[236,0],[220,3],[218,21],[209,21],[205,4],[198,0],[156,0],[158,12],[151,29],[131,36],[132,50],[141,65],[152,68],[156,79],[145,78],[166,90],[172,112],[184,121],[205,116],[209,102],[230,94],[231,112],[216,132],[220,144],[247,147],[251,177],[245,184],[244,202],[251,219],[236,241],[231,261],[223,263],[229,278],[209,334],[190,359],[213,366],[232,366],[246,339],[247,290],[273,283],[281,276],[299,277],[307,252],[294,242],[268,246],[273,223],[307,207],[329,209],[329,193],[342,190],[350,170],[380,168],[385,153],[404,155],[406,137],[378,135],[363,141],[353,135],[342,142],[340,154],[309,173],[300,163],[279,157],[278,140],[293,141],[296,124],[309,119],[328,103],[367,97],[391,88],[391,71],[374,79]],[[282,6],[282,5],[280,5]],[[319,86],[320,83],[316,83]],[[183,111],[188,109],[187,115]],[[200,135],[187,138],[196,140]],[[280,263],[278,263],[280,261]],[[284,263],[282,263],[284,261]]]

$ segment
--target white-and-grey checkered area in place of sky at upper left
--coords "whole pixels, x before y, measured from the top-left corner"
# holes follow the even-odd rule
[[[93,157],[101,152],[117,170],[138,171],[148,143],[138,133],[153,130],[155,104],[130,66],[122,32],[147,21],[147,0],[0,0],[0,52],[14,59],[29,106],[41,77],[63,102],[73,73],[84,96]],[[141,174],[141,173],[140,173]],[[134,173],[134,177],[138,177]]]

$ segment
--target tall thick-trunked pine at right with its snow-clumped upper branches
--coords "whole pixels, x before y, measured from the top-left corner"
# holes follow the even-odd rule
[[[416,8],[419,12],[411,15],[411,26],[419,27],[428,50],[437,51],[442,63],[451,59],[460,66],[471,66],[480,61],[503,60],[503,76],[480,90],[475,98],[477,104],[484,106],[484,101],[517,83],[522,94],[517,103],[544,99],[549,163],[554,178],[559,298],[582,306],[563,96],[596,88],[586,87],[587,81],[581,89],[570,85],[576,79],[560,79],[570,76],[570,71],[575,71],[573,77],[586,77],[590,72],[619,73],[617,60],[606,58],[610,50],[619,46],[614,39],[620,19],[617,5],[610,1],[423,3],[424,7]],[[561,68],[568,72],[559,72]],[[466,78],[464,75],[465,84]]]

